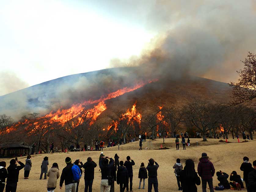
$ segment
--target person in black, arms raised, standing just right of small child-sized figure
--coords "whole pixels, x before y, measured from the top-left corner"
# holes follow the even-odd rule
[[[155,165],[154,165],[155,163]],[[157,169],[159,168],[159,165],[157,162],[155,162],[154,159],[148,160],[148,192],[152,191],[152,185],[154,186],[155,192],[158,192],[158,180],[157,180]]]

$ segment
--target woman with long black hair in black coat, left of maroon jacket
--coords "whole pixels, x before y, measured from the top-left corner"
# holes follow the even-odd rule
[[[197,192],[196,185],[200,185],[201,181],[200,177],[196,173],[193,160],[186,160],[184,170],[179,172],[179,175],[183,187],[183,192]]]

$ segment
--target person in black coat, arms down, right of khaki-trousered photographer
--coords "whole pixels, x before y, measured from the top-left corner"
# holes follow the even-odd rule
[[[117,168],[116,173],[116,183],[120,185],[120,192],[124,192],[128,182],[129,175],[127,168],[123,166],[123,161],[120,161],[120,166]]]

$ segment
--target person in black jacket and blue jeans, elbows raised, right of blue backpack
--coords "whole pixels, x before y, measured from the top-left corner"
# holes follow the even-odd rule
[[[92,192],[93,179],[94,179],[94,168],[97,167],[97,164],[92,160],[91,157],[87,158],[87,162],[83,165],[84,168],[84,183],[85,189],[84,192]]]

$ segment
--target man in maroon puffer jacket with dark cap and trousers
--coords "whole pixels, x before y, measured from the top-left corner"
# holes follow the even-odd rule
[[[202,157],[199,159],[197,166],[198,175],[202,179],[202,191],[206,192],[207,183],[210,188],[210,192],[214,192],[212,177],[214,176],[215,169],[209,157],[206,153],[202,153]]]

